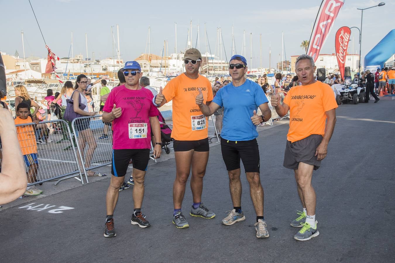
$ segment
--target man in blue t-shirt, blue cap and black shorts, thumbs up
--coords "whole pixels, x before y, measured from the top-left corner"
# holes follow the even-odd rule
[[[263,188],[260,181],[259,148],[256,142],[256,125],[271,118],[268,100],[262,88],[246,79],[247,61],[243,56],[234,55],[229,62],[229,75],[233,82],[218,90],[213,101],[207,106],[203,103],[203,94],[199,90],[196,104],[205,116],[211,116],[220,107],[224,107],[223,127],[221,131],[221,150],[226,170],[229,174],[229,188],[233,210],[222,220],[224,225],[233,225],[244,221],[241,210],[240,159],[243,161],[250,194],[256,212],[256,237],[269,237],[263,218]],[[262,116],[256,114],[260,108]]]

